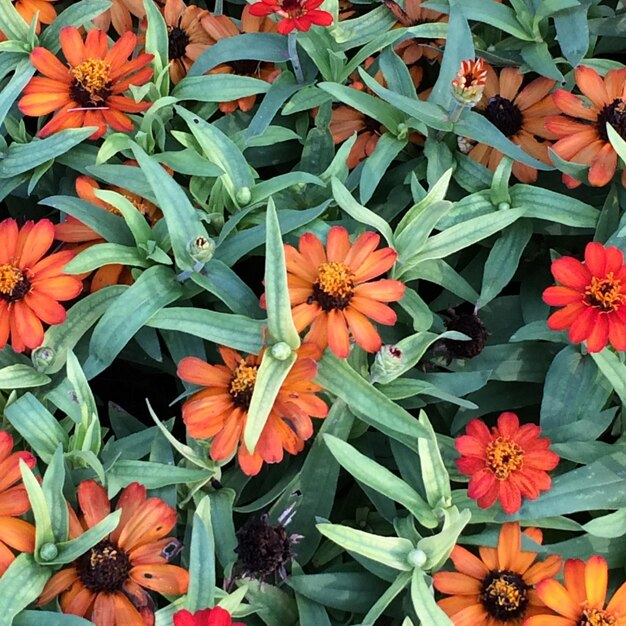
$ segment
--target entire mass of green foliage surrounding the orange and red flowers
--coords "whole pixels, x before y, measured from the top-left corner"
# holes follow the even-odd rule
[[[131,93],[150,106],[131,116],[132,132],[109,130],[95,142],[92,127],[38,137],[43,120],[25,117],[18,101],[36,71],[33,49],[57,54],[62,28],[91,30],[111,2],[60,1],[56,20],[40,30],[0,0],[3,217],[69,216],[99,239],[66,273],[112,265],[128,272],[124,284],[85,290],[30,355],[0,350],[2,429],[38,459],[37,470],[22,467],[35,546],[0,577],[0,626],[88,623],[34,603],[56,571],[119,522],[113,513],[69,537],[66,501],[75,508],[77,485],[89,479],[109,497],[138,481],[178,510],[189,590],[160,600],[157,626],[172,624],[181,609],[216,604],[248,626],[452,624],[431,575],[449,567],[457,543],[496,545],[498,527],[510,520],[544,529],[541,554],[600,555],[622,579],[624,355],[610,347],[588,354],[550,330],[541,294],[557,257],[581,256],[590,241],[626,249],[624,188],[616,179],[602,189],[566,189],[561,174],[585,182],[585,165],[554,152],[553,164],[530,156],[486,116],[460,107],[451,82],[461,62],[476,57],[569,88],[581,64],[600,74],[621,68],[614,59],[625,48],[623,7],[431,0],[427,8],[447,19],[411,25],[391,0],[393,10],[354,3],[341,20],[339,2],[326,0],[330,27],[224,38],[173,85],[162,4],[144,0],[137,25],[154,73]],[[195,4],[224,10],[221,2]],[[240,9],[226,7],[237,16]],[[437,54],[421,61],[427,98],[398,53],[407,41]],[[211,72],[241,61],[280,72],[273,82]],[[221,112],[220,104],[251,96],[246,111]],[[375,148],[353,168],[359,138],[336,146],[338,106],[375,127]],[[624,160],[625,129],[609,128],[606,140]],[[490,170],[459,149],[461,139],[505,156]],[[517,182],[514,162],[539,170],[538,182]],[[76,197],[78,176],[97,181],[94,198],[114,210]],[[162,219],[149,223],[137,197]],[[316,383],[328,417],[301,454],[246,476],[230,459],[211,460],[205,441],[185,439],[177,365],[189,356],[215,363],[216,346],[253,355],[269,348],[241,443],[253,450],[301,342],[283,245],[304,233],[323,240],[333,225],[353,239],[377,231],[397,252],[391,278],[406,285],[398,321],[380,329],[384,347],[375,357],[358,345],[348,359],[325,352]],[[465,311],[488,332],[472,354],[459,344],[474,338],[450,330]],[[133,376],[170,383],[154,385],[136,410],[134,398],[116,396],[120,408],[107,397],[129,364]],[[105,377],[115,382],[96,393]],[[150,402],[171,408],[157,415]],[[135,415],[125,410],[131,405]],[[504,411],[539,424],[561,458],[551,489],[514,515],[479,508],[455,465],[454,438],[470,420],[491,424]],[[301,536],[287,578],[242,576],[237,529],[262,514],[278,523],[286,510],[289,532]]]

